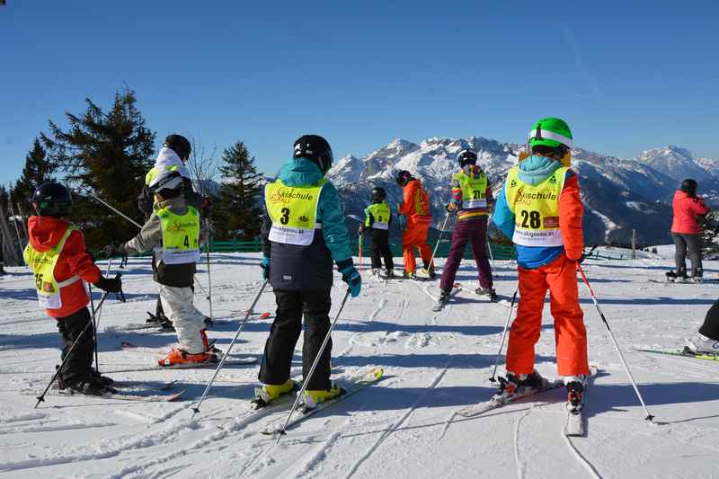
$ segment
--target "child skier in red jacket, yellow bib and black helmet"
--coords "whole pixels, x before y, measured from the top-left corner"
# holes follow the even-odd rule
[[[73,200],[65,186],[42,183],[32,194],[32,207],[37,216],[28,218],[30,243],[25,247],[25,262],[35,277],[40,306],[58,324],[62,359],[77,342],[59,372],[58,386],[84,395],[116,393],[111,386],[114,381],[93,368],[95,334],[84,282],[112,293],[120,292],[122,283],[119,278],[102,277],[87,253],[83,233],[67,221]]]

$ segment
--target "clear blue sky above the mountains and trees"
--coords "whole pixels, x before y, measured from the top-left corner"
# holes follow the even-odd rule
[[[28,2],[0,7],[0,182],[48,120],[127,84],[147,126],[238,140],[275,173],[303,133],[335,158],[395,137],[719,157],[716,2]]]

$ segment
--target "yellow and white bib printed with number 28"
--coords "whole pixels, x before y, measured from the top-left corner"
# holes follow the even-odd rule
[[[539,247],[564,244],[559,229],[559,195],[568,169],[558,168],[537,185],[519,180],[517,166],[507,173],[505,195],[516,218],[511,238],[515,244]]]

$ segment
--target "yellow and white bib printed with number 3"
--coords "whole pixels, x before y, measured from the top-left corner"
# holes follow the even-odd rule
[[[281,180],[269,183],[264,189],[264,201],[270,215],[270,241],[306,246],[312,244],[317,223],[320,192],[327,182],[324,178],[313,186],[287,186]]]

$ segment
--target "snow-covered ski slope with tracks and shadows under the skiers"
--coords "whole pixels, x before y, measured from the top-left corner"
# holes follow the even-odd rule
[[[118,381],[144,385],[129,388],[176,379],[174,390],[186,390],[184,401],[49,395],[33,409],[58,363],[60,340],[37,306],[29,272],[10,268],[0,279],[0,477],[719,477],[719,363],[636,351],[680,346],[719,295],[719,282],[649,282],[663,279],[670,265],[644,259],[585,267],[658,425],[644,421],[583,287],[590,362],[599,367],[587,393],[587,437],[562,435],[561,389],[472,419],[455,415],[492,394],[487,378],[508,312],[475,296],[474,264],[463,262],[457,279],[465,288],[439,313],[431,312],[427,294],[437,295],[435,284],[383,285],[366,270],[362,294],[347,302],[333,334],[334,376],[342,380],[370,365],[385,368],[386,376],[288,430],[279,444],[258,433],[277,415],[240,419],[258,364],[224,369],[195,421],[189,408],[212,369],[133,372],[155,364],[174,338],[120,331],[143,323],[154,308],[149,262],[141,259],[124,272],[127,303],[112,299],[103,308],[100,368]],[[715,277],[719,263],[705,268]],[[498,274],[498,292],[508,299],[515,266],[498,262]],[[223,322],[209,335],[220,348],[250,306],[259,276],[258,254],[214,256],[214,310]],[[204,270],[198,278],[207,287]],[[344,290],[336,276],[332,315]],[[200,291],[196,298],[207,312]],[[256,311],[274,315],[273,300],[266,291]],[[232,355],[260,359],[270,324],[271,318],[254,315]],[[556,375],[551,330],[546,311],[537,368],[547,377]],[[123,350],[121,342],[145,349]],[[297,351],[297,371],[299,359]]]

